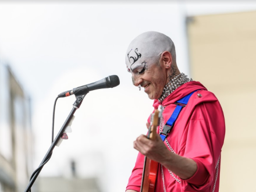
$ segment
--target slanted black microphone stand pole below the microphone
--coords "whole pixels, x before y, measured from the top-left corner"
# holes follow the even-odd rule
[[[89,92],[88,89],[86,88],[86,90],[83,90],[84,93],[83,94],[75,94],[76,95],[76,101],[73,104],[73,108],[71,110],[71,112],[69,113],[69,116],[67,116],[67,119],[65,120],[65,123],[63,124],[63,126],[61,127],[61,130],[59,130],[59,133],[57,134],[57,136],[55,137],[54,142],[52,142],[51,147],[49,148],[49,150],[47,151],[47,153],[45,154],[44,159],[42,159],[42,162],[40,163],[39,167],[37,168],[37,172],[35,173],[35,175],[32,177],[32,179],[30,180],[29,184],[27,185],[27,188],[24,192],[29,192],[31,187],[33,186],[35,179],[37,179],[37,176],[39,175],[39,173],[41,172],[42,168],[44,167],[45,161],[47,161],[47,159],[51,156],[52,151],[55,148],[55,145],[58,143],[59,139],[61,138],[63,132],[65,131],[67,125],[69,124],[70,120],[72,119],[74,112],[76,112],[76,109],[79,109],[81,103],[83,102],[84,97],[86,97],[86,94]]]

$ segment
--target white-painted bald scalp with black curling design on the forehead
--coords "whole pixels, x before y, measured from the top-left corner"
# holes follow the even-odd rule
[[[150,66],[158,63],[162,52],[168,51],[172,55],[172,62],[176,64],[175,45],[165,34],[148,31],[138,35],[131,41],[126,52],[127,70],[131,72],[138,66]]]

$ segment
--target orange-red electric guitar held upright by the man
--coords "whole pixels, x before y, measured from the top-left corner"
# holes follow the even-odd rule
[[[157,134],[157,126],[162,115],[162,105],[155,109],[154,118],[151,118],[150,127],[148,127],[148,138],[155,140]],[[153,119],[153,120],[152,120]],[[155,182],[157,180],[158,162],[151,160],[145,156],[143,175],[141,179],[140,192],[154,192]]]

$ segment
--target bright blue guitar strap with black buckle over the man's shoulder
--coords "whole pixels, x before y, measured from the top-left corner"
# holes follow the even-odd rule
[[[193,93],[195,93],[195,91],[193,91],[189,95],[186,95],[182,99],[179,99],[179,101],[175,102],[175,105],[177,106],[173,111],[172,116],[170,116],[170,119],[166,122],[165,126],[163,126],[163,130],[160,133],[160,137],[162,138],[163,141],[165,141],[165,138],[168,136],[168,133],[170,132],[170,130],[172,130],[172,127],[176,119],[178,118],[180,112],[182,111],[182,108],[187,105],[187,102],[189,102],[189,99]]]

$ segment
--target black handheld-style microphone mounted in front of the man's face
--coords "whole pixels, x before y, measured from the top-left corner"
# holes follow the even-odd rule
[[[73,88],[73,90],[62,92],[58,95],[58,97],[68,97],[73,94],[84,95],[87,94],[89,91],[98,90],[100,88],[113,88],[118,86],[119,84],[119,77],[117,75],[111,75],[94,83],[90,83],[85,86]]]

